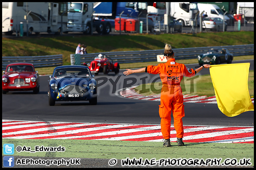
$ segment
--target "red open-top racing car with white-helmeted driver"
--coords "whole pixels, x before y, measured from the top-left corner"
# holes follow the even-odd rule
[[[94,58],[94,61],[91,63],[84,63],[84,66],[89,67],[91,73],[97,75],[100,72],[108,74],[109,72],[114,72],[115,74],[119,73],[119,64],[114,63],[110,57],[107,57],[105,54],[99,54]]]

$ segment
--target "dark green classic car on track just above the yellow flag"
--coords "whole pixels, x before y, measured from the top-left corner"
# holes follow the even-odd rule
[[[231,64],[233,54],[231,54],[226,48],[211,48],[206,53],[197,56],[197,58],[200,66],[203,64]]]

